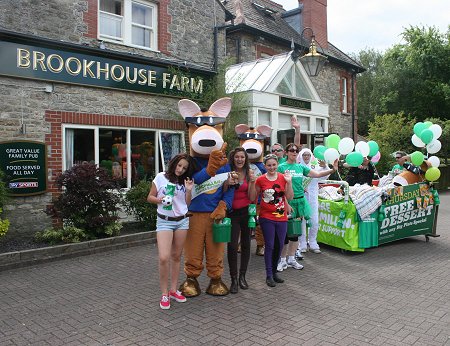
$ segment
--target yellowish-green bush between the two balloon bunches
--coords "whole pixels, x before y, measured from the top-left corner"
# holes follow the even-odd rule
[[[381,159],[376,165],[380,176],[387,174],[395,164],[393,153],[401,150],[412,153],[417,148],[411,142],[416,119],[410,119],[403,113],[376,115],[369,123],[370,140],[380,146]]]

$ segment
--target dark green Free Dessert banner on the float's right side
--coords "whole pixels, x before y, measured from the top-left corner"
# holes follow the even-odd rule
[[[379,243],[432,233],[436,205],[425,183],[399,186],[387,191],[390,199],[382,209],[386,218],[379,223]]]

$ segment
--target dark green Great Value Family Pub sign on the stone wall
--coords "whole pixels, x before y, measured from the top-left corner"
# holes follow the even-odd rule
[[[12,196],[29,196],[47,190],[47,147],[34,141],[0,142],[0,169],[6,174]]]

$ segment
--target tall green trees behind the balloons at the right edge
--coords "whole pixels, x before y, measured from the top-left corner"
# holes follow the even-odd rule
[[[384,54],[369,49],[355,57],[367,68],[357,77],[360,134],[381,114],[450,118],[450,28],[411,26],[402,35],[405,43]]]

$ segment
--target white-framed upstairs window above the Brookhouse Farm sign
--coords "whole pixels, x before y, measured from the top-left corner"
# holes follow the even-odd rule
[[[130,47],[136,47],[140,49],[146,49],[150,51],[158,52],[158,6],[154,2],[144,1],[144,0],[121,0],[123,2],[123,16],[118,16],[109,12],[100,11],[100,0],[98,0],[98,13],[97,13],[97,23],[98,23],[98,39],[105,42],[111,42],[116,44],[122,44]],[[133,23],[132,19],[132,5],[133,3],[150,7],[152,9],[152,23],[153,27],[143,26],[141,24]],[[110,16],[122,18],[122,37],[120,39],[102,35],[100,33],[100,14],[106,13]],[[153,42],[152,47],[139,46],[132,43],[132,29],[134,26],[144,27],[151,31],[150,42]]]

